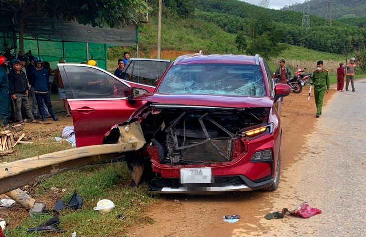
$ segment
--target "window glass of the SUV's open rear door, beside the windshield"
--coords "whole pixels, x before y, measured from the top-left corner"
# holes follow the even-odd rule
[[[136,60],[133,65],[133,71],[127,69],[126,73],[128,76],[123,79],[145,85],[154,85],[165,72],[167,66],[167,62]]]

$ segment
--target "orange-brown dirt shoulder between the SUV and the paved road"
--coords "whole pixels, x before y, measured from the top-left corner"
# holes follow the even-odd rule
[[[303,137],[309,134],[316,121],[313,92],[307,101],[308,87],[300,94],[291,93],[284,98],[281,122],[283,138],[281,146],[282,173],[292,164],[302,147]],[[325,96],[325,104],[335,89]],[[339,92],[338,92],[339,93]],[[319,118],[321,119],[321,117]],[[281,176],[280,186],[274,192],[227,193],[219,196],[165,195],[154,201],[144,215],[153,224],[135,224],[129,228],[130,236],[263,236],[268,226],[263,216],[279,205],[282,195],[291,195],[291,187],[281,188],[291,177]],[[299,182],[301,180],[298,180]],[[286,185],[282,185],[286,186]],[[286,190],[285,190],[286,189]],[[291,198],[291,197],[289,197]],[[296,197],[293,197],[296,199]],[[225,215],[239,214],[237,223],[226,223]]]

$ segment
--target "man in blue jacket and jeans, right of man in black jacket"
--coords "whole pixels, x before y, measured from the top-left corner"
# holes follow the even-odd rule
[[[47,69],[42,67],[43,63],[44,62],[42,61],[41,58],[35,58],[34,64],[36,65],[36,67],[31,72],[31,78],[34,83],[34,92],[36,95],[37,106],[38,106],[38,110],[40,111],[42,121],[46,120],[45,111],[43,110],[42,100],[45,102],[45,104],[48,108],[48,112],[52,116],[52,119],[54,121],[57,121],[59,119],[55,117],[55,113],[54,113],[54,110],[53,110],[52,104],[51,104],[51,97],[50,97],[50,94],[48,93],[48,88],[47,88],[47,82],[49,79],[49,75],[48,75]]]

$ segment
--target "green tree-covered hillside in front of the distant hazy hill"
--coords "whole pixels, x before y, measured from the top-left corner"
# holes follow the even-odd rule
[[[253,48],[253,52],[263,47],[270,50],[271,42],[277,40],[338,54],[365,47],[366,29],[357,24],[332,21],[331,26],[325,26],[324,18],[311,15],[310,27],[302,27],[302,14],[298,12],[266,9],[239,0],[197,0],[196,15],[227,32],[243,32],[249,38],[249,47]],[[264,43],[266,46],[263,46]]]

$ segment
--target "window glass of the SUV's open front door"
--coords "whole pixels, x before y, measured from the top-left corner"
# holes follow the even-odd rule
[[[70,91],[68,98],[104,99],[128,96],[129,87],[98,68],[64,66]]]

